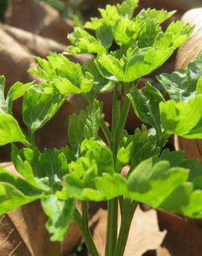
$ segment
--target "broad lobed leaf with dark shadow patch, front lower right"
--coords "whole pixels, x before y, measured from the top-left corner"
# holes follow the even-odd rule
[[[141,162],[129,175],[129,198],[156,207],[187,178],[187,169],[170,167],[168,161],[156,163],[155,158],[149,158]]]

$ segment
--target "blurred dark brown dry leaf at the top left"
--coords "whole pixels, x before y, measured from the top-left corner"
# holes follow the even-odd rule
[[[36,0],[10,0],[6,23],[61,44],[67,44],[66,35],[73,30],[72,21],[62,19],[57,10]]]

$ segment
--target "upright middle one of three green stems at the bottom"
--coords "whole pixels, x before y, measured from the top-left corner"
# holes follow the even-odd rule
[[[113,256],[118,234],[118,198],[111,199],[107,205],[107,236],[105,256]]]

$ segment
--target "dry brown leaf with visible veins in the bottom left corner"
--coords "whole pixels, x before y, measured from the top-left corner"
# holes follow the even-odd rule
[[[1,163],[12,174],[17,174],[12,163]],[[18,174],[18,176],[20,176]],[[79,204],[78,204],[79,206]],[[0,217],[0,255],[2,256],[60,256],[70,253],[81,239],[75,223],[63,243],[51,242],[39,201]]]

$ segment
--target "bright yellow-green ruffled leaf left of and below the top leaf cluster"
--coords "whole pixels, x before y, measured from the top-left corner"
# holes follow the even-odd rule
[[[39,64],[37,70],[30,68],[29,72],[48,81],[60,94],[87,93],[93,86],[93,75],[82,72],[80,64],[69,61],[64,55],[50,53],[48,60],[36,57]],[[47,84],[45,85],[47,86]]]

